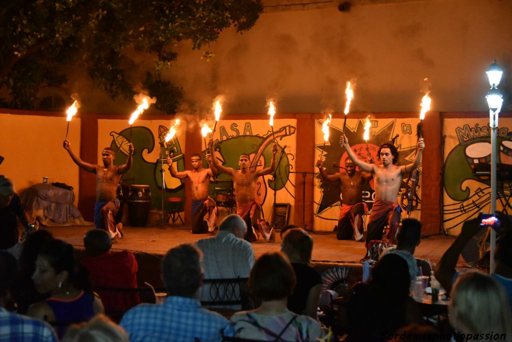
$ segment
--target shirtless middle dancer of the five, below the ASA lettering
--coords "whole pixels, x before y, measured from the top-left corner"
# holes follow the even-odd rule
[[[212,139],[208,142],[208,147],[210,148],[210,151],[212,151],[212,165],[214,165],[220,172],[231,176],[231,179],[233,180],[235,190],[234,199],[237,202],[237,214],[244,219],[247,224],[247,228],[252,228],[247,229],[245,239],[249,242],[258,239],[256,231],[254,230],[254,226],[256,226],[262,233],[265,240],[268,241],[271,236],[271,231],[266,231],[267,229],[258,224],[261,214],[261,204],[254,198],[254,191],[258,177],[269,175],[274,172],[275,154],[278,152],[278,144],[274,142],[272,146],[272,160],[270,167],[259,170],[249,168],[250,159],[247,154],[242,154],[240,156],[238,161],[240,170],[220,165],[217,162],[217,158],[215,158],[214,141]]]

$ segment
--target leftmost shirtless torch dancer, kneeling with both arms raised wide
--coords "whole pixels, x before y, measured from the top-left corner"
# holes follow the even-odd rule
[[[71,151],[71,143],[64,140],[64,149],[68,151],[71,159],[79,167],[87,172],[96,174],[96,203],[94,204],[94,225],[96,228],[105,229],[111,239],[122,238],[122,224],[115,225],[114,216],[119,209],[119,200],[116,197],[117,186],[121,177],[132,167],[133,144],[128,145],[128,159],[126,164],[114,165],[114,150],[110,147],[103,148],[101,160],[103,165],[93,165],[84,162]]]

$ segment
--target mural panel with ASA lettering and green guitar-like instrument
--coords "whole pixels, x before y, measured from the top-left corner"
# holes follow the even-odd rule
[[[212,126],[212,125],[211,125]],[[256,186],[255,198],[263,206],[263,215],[271,218],[274,203],[295,204],[295,146],[296,120],[274,120],[274,136],[278,143],[276,155],[275,179],[272,175],[260,177]],[[216,157],[226,167],[239,169],[241,154],[249,154],[251,166],[265,168],[270,166],[273,136],[268,120],[220,120],[213,135]],[[203,144],[204,146],[204,144]],[[204,151],[203,151],[204,154]],[[226,188],[232,186],[230,176],[220,174],[217,183],[210,187]],[[222,192],[223,189],[220,189]],[[217,196],[215,191],[211,195]],[[290,219],[290,224],[293,218]]]

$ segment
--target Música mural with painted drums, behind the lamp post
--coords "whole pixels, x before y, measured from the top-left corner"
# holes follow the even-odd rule
[[[488,119],[444,119],[443,228],[458,234],[462,223],[490,212],[491,144]],[[497,141],[497,210],[510,213],[512,119],[500,118]]]

